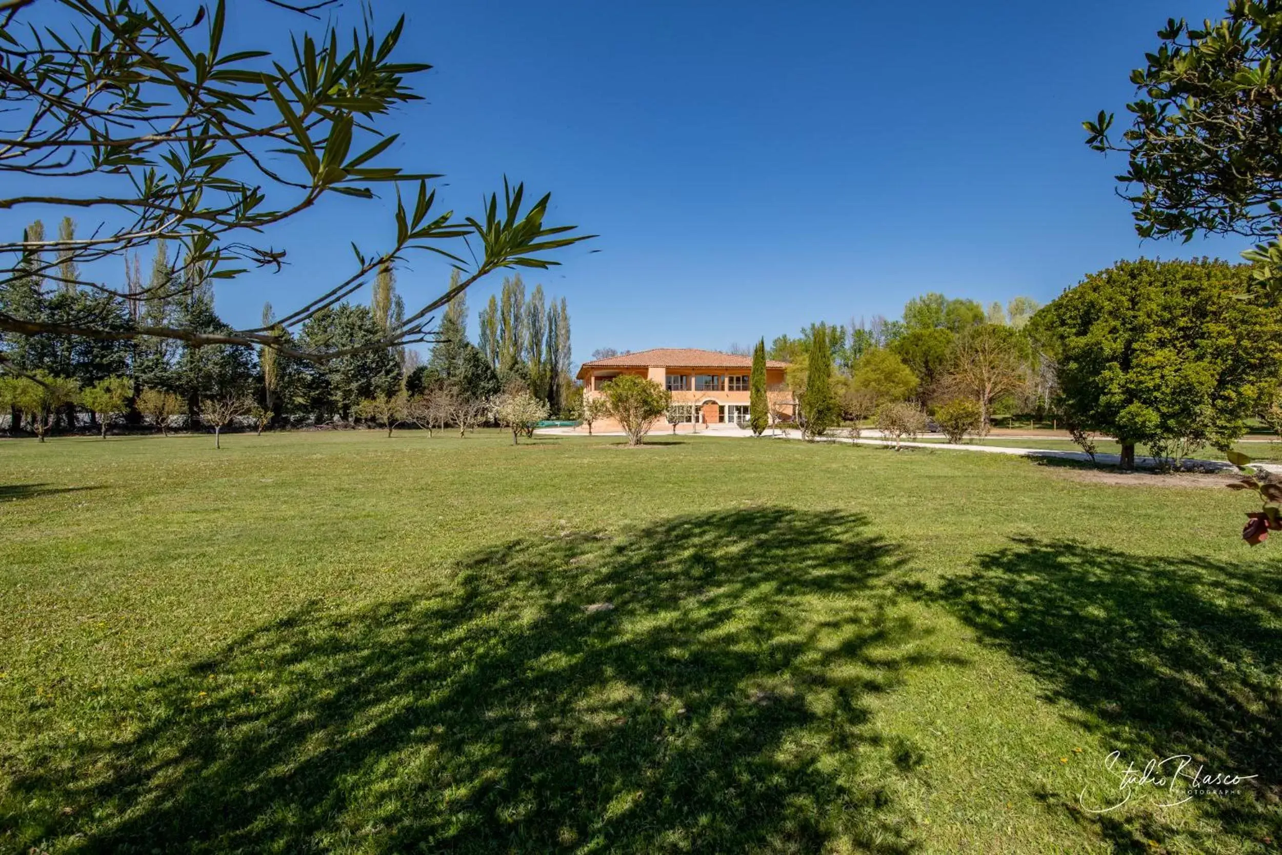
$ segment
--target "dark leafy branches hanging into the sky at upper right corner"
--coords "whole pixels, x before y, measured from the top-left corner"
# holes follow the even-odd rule
[[[1083,122],[1087,145],[1127,155],[1118,176],[1140,237],[1199,232],[1261,241],[1245,254],[1267,299],[1282,300],[1282,1],[1231,0],[1222,21],[1167,22],[1131,72],[1135,117]]]

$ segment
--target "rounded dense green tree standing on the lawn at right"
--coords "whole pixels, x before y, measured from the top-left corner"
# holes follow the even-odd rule
[[[1224,261],[1122,261],[1041,309],[1060,406],[1122,444],[1229,449],[1278,386],[1282,322],[1240,299],[1250,272]]]

